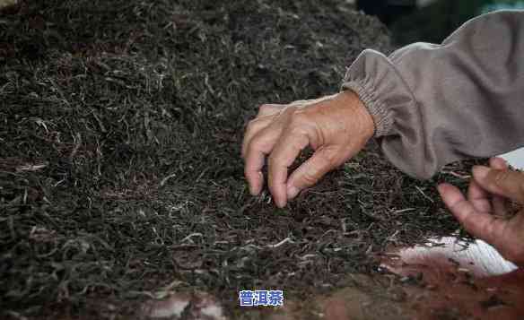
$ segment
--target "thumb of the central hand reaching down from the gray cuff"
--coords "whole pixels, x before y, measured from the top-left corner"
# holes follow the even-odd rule
[[[337,165],[336,150],[320,148],[311,158],[296,169],[287,182],[287,197],[293,199],[296,195],[309,186],[315,185],[321,177]]]

